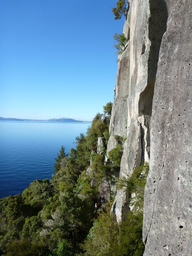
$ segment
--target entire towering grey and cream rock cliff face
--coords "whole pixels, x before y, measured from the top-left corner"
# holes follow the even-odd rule
[[[191,11],[188,0],[130,0],[123,28],[127,44],[118,57],[107,151],[116,145],[114,135],[127,136],[120,177],[150,161],[146,256],[190,251]],[[129,209],[128,195],[117,190],[113,210],[118,222]]]

